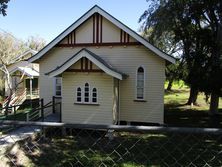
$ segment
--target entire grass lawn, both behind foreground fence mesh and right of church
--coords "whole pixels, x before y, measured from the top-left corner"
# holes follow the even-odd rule
[[[186,106],[189,90],[182,86],[165,94],[168,126],[222,127],[221,116],[210,117],[202,94],[199,106]],[[222,104],[220,99],[220,113]],[[71,131],[68,131],[71,132]],[[106,132],[48,128],[45,134],[18,142],[0,166],[222,166],[222,135],[191,133]],[[13,159],[13,164],[9,161]],[[1,164],[2,163],[2,164]]]

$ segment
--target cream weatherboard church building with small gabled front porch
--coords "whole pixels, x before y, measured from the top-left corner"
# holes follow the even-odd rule
[[[62,100],[62,122],[164,121],[166,62],[175,59],[94,6],[29,59],[40,98]]]

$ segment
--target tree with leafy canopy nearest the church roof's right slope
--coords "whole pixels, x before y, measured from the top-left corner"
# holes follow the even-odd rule
[[[174,11],[174,12],[172,12]],[[193,39],[191,39],[190,30],[193,29],[190,26],[190,20],[184,16],[184,3],[177,1],[151,1],[148,10],[141,16],[140,21],[143,22],[143,30],[149,32],[152,29],[152,33],[149,37],[149,41],[155,44],[155,41],[159,41],[162,38],[166,38],[165,41],[172,41],[172,43],[164,42],[162,46],[167,44],[167,47],[171,48],[177,43],[181,45],[181,57],[185,59],[187,64],[188,75],[187,78],[194,77],[193,73],[193,61],[190,59],[190,50]],[[164,18],[164,19],[163,19]],[[192,32],[192,31],[191,31]],[[165,34],[171,34],[166,36]],[[189,38],[187,38],[189,37]],[[163,40],[161,40],[163,41]],[[171,44],[171,45],[169,45]],[[159,45],[157,45],[160,47]],[[160,47],[161,48],[161,47]],[[189,59],[189,61],[187,61]],[[190,61],[192,60],[192,61]],[[195,77],[194,77],[195,78]],[[185,79],[186,83],[190,85],[190,97],[187,104],[195,104],[197,99],[198,90],[193,83],[192,79]]]

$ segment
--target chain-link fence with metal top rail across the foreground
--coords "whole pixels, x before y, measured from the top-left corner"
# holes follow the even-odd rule
[[[22,125],[33,133],[20,133],[22,140],[1,151],[0,166],[222,166],[222,129],[1,124]],[[2,134],[0,143],[7,137],[15,139]]]

